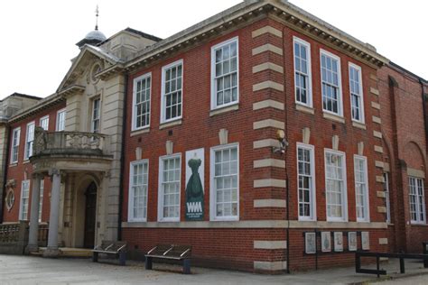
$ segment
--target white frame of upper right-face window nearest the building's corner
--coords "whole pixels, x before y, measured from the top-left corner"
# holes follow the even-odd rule
[[[307,82],[307,103],[303,103],[302,101],[298,101],[297,100],[297,86],[296,86],[296,72],[302,73],[300,71],[296,70],[296,66],[295,66],[295,57],[296,57],[296,51],[295,51],[295,44],[298,43],[302,46],[304,46],[306,48],[306,62],[307,62],[307,78],[308,78],[308,82]],[[294,84],[294,100],[296,104],[300,104],[302,106],[308,106],[312,108],[312,64],[311,64],[311,43],[309,43],[308,41],[303,41],[302,39],[293,36],[293,69],[294,69],[294,73],[293,73],[293,84]],[[303,74],[304,75],[304,74]]]

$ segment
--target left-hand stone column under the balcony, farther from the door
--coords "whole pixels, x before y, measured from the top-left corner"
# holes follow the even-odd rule
[[[28,236],[28,245],[25,253],[33,253],[39,250],[39,207],[40,207],[40,183],[41,174],[33,175],[32,189],[32,211],[30,213],[30,234]]]

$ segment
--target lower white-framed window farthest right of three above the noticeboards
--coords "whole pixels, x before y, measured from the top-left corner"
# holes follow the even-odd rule
[[[357,221],[368,222],[368,162],[364,156],[354,155],[355,199]]]

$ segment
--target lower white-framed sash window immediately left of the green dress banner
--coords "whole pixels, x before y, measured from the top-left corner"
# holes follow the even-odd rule
[[[159,220],[180,221],[181,155],[159,159]]]

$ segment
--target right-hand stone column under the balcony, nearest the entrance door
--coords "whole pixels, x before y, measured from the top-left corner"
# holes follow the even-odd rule
[[[58,256],[58,225],[60,222],[60,170],[51,170],[52,190],[51,190],[51,213],[49,216],[48,248],[43,256]]]

